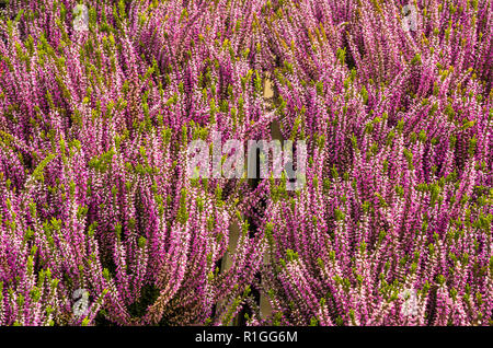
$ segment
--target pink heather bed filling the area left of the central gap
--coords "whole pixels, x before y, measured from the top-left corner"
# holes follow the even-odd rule
[[[229,251],[230,269],[218,275],[237,219],[226,204],[231,189],[188,179],[186,143],[217,127],[246,124],[240,130],[246,131],[263,105],[255,109],[241,97],[250,86],[232,80],[226,49],[227,56],[197,54],[200,65],[188,68],[177,57],[186,56],[184,47],[145,49],[158,39],[147,31],[164,13],[170,26],[182,28],[171,34],[176,42],[193,40],[186,25],[176,24],[191,8],[104,3],[90,9],[87,32],[74,32],[67,11],[74,4],[13,7],[18,19],[3,23],[2,323],[225,321],[259,268],[259,241],[243,237]],[[130,36],[134,22],[140,30]],[[248,67],[245,61],[233,73]],[[216,113],[229,116],[228,103],[238,105],[245,123],[214,120]],[[93,303],[83,317],[71,309],[78,289],[87,289]],[[227,305],[211,317],[219,301]]]

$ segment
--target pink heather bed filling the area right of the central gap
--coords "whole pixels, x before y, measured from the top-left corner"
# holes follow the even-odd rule
[[[491,3],[419,8],[415,33],[392,2],[266,8],[284,135],[312,148],[302,193],[270,187],[260,323],[491,323]]]

